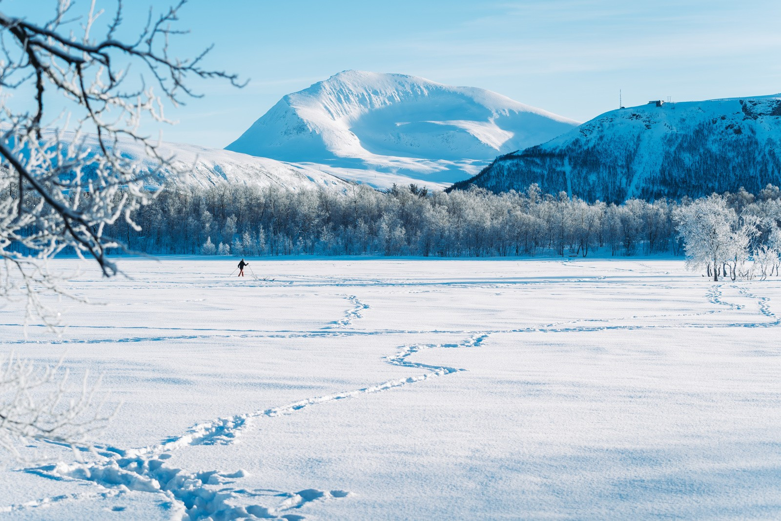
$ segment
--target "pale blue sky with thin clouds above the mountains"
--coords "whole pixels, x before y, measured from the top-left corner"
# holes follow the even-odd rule
[[[168,4],[133,0],[127,27]],[[52,2],[0,9],[34,5]],[[483,87],[582,121],[615,109],[619,89],[626,106],[781,92],[778,0],[191,0],[181,18],[180,54],[214,43],[209,66],[249,83],[195,83],[205,98],[169,110],[180,123],[163,135],[219,148],[285,94],[348,69]]]

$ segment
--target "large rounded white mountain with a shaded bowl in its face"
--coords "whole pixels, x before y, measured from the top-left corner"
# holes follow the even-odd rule
[[[287,95],[227,150],[374,186],[447,186],[578,123],[474,87],[349,70]]]

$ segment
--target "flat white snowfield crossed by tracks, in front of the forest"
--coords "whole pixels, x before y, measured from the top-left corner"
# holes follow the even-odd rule
[[[118,416],[2,519],[778,519],[781,281],[679,260],[123,259],[65,353]],[[53,262],[73,269],[77,261]],[[254,276],[256,277],[254,277]]]

